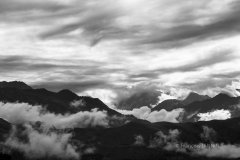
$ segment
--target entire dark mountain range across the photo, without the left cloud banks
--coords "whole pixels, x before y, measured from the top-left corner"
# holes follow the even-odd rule
[[[69,129],[54,129],[57,132],[67,132],[71,135],[71,142],[81,142],[96,148],[94,153],[85,153],[82,159],[105,159],[105,160],[126,160],[126,159],[224,159],[223,157],[209,157],[206,155],[192,156],[189,154],[191,150],[186,152],[178,152],[176,150],[166,150],[162,147],[149,147],[151,142],[156,140],[156,137],[161,133],[163,137],[167,137],[170,131],[179,133],[175,143],[184,144],[200,144],[200,143],[216,143],[216,144],[240,144],[240,112],[238,104],[240,97],[229,97],[225,94],[219,94],[213,98],[208,96],[190,93],[184,100],[165,100],[152,108],[152,112],[158,112],[162,109],[173,111],[175,109],[184,109],[181,114],[180,123],[156,122],[151,123],[146,120],[137,119],[133,116],[125,116],[121,113],[109,108],[100,99],[78,96],[70,90],[64,89],[59,92],[51,92],[46,89],[33,89],[23,82],[0,82],[0,101],[3,103],[28,103],[36,106],[41,105],[51,113],[56,115],[61,114],[76,114],[82,111],[91,111],[97,108],[99,111],[105,111],[109,116],[125,118],[127,123],[120,123],[117,126],[91,127],[91,128],[69,128]],[[140,108],[142,104],[146,106],[157,102],[158,95],[154,94],[136,94],[130,97],[125,102],[120,104],[125,109]],[[138,101],[140,98],[140,101]],[[145,101],[147,100],[147,101]],[[135,103],[132,103],[135,101]],[[73,104],[80,105],[74,107]],[[198,121],[199,114],[209,113],[215,110],[228,110],[231,113],[230,119]],[[117,120],[118,120],[117,119]],[[9,123],[0,118],[0,141],[4,142],[8,135],[11,135],[11,128],[15,126],[21,130],[23,127]],[[211,139],[203,139],[201,135],[208,128],[208,131],[214,134]],[[24,132],[23,132],[24,133]],[[158,133],[158,134],[157,134]],[[208,132],[210,133],[210,132]],[[160,135],[161,135],[160,134]],[[21,135],[21,134],[20,134]],[[136,143],[140,137],[141,145]],[[163,138],[162,137],[162,138]],[[159,137],[158,137],[159,138]],[[160,137],[161,138],[161,137]],[[209,138],[209,134],[208,134]],[[163,141],[163,139],[161,140]],[[159,143],[160,141],[158,141]],[[136,145],[137,144],[137,145]],[[79,145],[80,147],[81,145]],[[78,150],[80,150],[78,148]],[[22,160],[23,153],[14,150],[11,153],[12,159]],[[1,159],[1,155],[0,155]],[[46,158],[43,158],[46,159]],[[54,159],[54,158],[49,158]],[[228,157],[228,159],[236,159]]]

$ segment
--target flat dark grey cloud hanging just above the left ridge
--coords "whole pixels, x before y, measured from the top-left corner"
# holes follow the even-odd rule
[[[33,88],[46,88],[51,91],[58,92],[62,89],[69,89],[75,93],[83,92],[87,89],[93,89],[93,88],[106,88],[107,86],[110,86],[106,83],[106,81],[103,80],[89,80],[89,81],[69,81],[69,82],[58,82],[58,81],[52,81],[52,82],[41,82],[38,84],[32,84],[31,87]]]

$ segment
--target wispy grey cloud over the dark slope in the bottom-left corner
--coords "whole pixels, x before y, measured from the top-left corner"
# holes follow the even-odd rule
[[[80,157],[76,146],[69,143],[72,136],[70,133],[58,133],[50,130],[41,132],[35,130],[31,125],[25,124],[22,134],[27,136],[27,142],[17,138],[19,131],[13,127],[3,145],[23,152],[30,159],[46,157],[79,159]]]

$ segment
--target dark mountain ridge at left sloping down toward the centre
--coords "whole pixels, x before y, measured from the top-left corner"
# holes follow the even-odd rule
[[[105,110],[109,115],[121,115],[117,111],[110,109],[101,100],[92,97],[79,97],[69,90],[62,90],[58,93],[46,89],[17,89],[17,88],[0,88],[0,101],[29,103],[31,105],[42,105],[53,113],[77,113],[79,111],[90,111],[98,108],[100,111]],[[85,105],[73,107],[71,102],[81,101]]]

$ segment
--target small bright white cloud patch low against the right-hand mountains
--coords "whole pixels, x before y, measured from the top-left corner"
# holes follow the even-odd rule
[[[211,121],[211,120],[225,120],[231,118],[231,113],[228,110],[215,110],[208,113],[199,113],[199,121]]]

